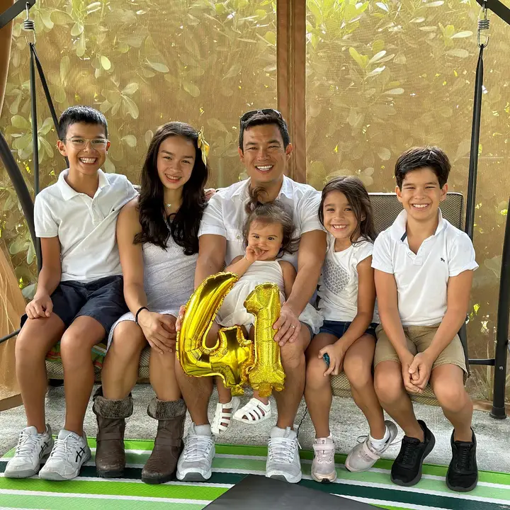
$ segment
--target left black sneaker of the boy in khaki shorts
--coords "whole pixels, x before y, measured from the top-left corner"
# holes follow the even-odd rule
[[[392,465],[391,480],[403,487],[411,487],[420,481],[421,465],[436,444],[436,438],[427,429],[424,421],[418,420],[418,423],[424,431],[424,442],[404,436],[400,452]]]

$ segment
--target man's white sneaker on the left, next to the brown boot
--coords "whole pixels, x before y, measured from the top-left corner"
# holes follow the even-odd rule
[[[204,427],[204,428],[203,428]],[[191,424],[184,438],[184,449],[177,463],[177,480],[205,482],[212,475],[211,465],[215,455],[214,436],[209,425]]]

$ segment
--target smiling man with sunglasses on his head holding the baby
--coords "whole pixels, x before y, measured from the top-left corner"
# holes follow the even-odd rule
[[[213,196],[200,226],[200,249],[195,285],[221,271],[236,256],[244,255],[242,225],[250,188],[263,188],[267,200],[279,200],[293,214],[296,254],[283,256],[297,269],[293,290],[274,324],[275,341],[281,348],[285,390],[276,392],[278,421],[271,429],[266,476],[299,482],[301,467],[297,436],[293,430],[297,407],[305,388],[305,349],[310,344],[311,324],[300,322],[300,314],[314,295],[326,252],[326,234],[319,222],[320,193],[307,184],[285,176],[292,154],[287,123],[272,108],[244,113],[239,130],[239,157],[249,179],[232,184]],[[214,457],[208,421],[212,378],[191,378],[177,368],[179,385],[193,425],[179,460],[179,480],[207,480]],[[227,406],[224,412],[228,412]]]

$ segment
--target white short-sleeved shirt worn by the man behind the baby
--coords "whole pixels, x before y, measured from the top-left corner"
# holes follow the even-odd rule
[[[249,200],[249,179],[220,189],[213,195],[200,223],[198,236],[216,234],[227,239],[225,263],[228,265],[235,257],[244,255],[242,225],[246,219],[244,207]],[[322,230],[319,222],[321,194],[308,184],[297,183],[283,176],[283,183],[276,200],[280,200],[293,212],[295,223],[294,237],[305,232]],[[282,260],[293,263],[297,270],[297,252],[285,254]]]

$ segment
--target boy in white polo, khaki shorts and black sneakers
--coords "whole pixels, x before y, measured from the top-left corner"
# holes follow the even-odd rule
[[[391,479],[409,487],[435,438],[416,420],[407,392],[429,382],[454,427],[446,485],[467,492],[477,485],[472,402],[465,391],[467,366],[457,332],[465,321],[472,273],[478,267],[465,232],[441,216],[450,162],[438,147],[414,147],[395,165],[397,198],[404,206],[373,247],[372,267],[381,325],[376,330],[375,390],[405,436]]]

